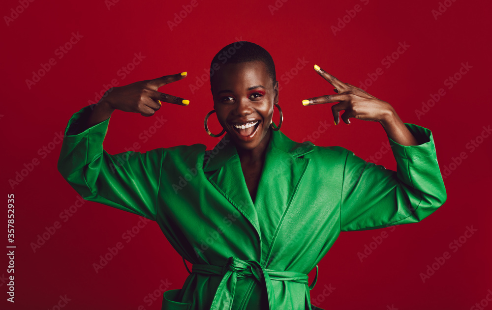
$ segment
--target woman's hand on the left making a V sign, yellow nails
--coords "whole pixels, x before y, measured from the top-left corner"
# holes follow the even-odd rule
[[[103,103],[109,110],[140,113],[143,116],[152,116],[162,106],[161,101],[187,106],[189,101],[157,91],[163,85],[182,80],[186,72],[165,75],[163,77],[139,81],[120,87],[112,87],[104,93],[98,102]]]

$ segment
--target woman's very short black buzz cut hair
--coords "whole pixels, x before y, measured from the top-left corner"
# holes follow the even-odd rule
[[[277,82],[275,64],[270,53],[258,44],[248,41],[236,41],[221,48],[212,59],[212,62],[210,63],[210,89],[212,90],[213,76],[216,71],[220,70],[221,65],[248,61],[263,62],[267,67],[268,75],[272,78],[272,82],[275,85]]]

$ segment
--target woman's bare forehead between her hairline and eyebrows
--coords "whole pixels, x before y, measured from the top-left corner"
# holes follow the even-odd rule
[[[215,91],[272,84],[263,61],[225,63],[215,72],[212,82]]]

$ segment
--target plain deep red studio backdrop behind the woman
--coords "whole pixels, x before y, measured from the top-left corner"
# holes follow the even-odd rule
[[[61,143],[56,137],[70,116],[113,79],[126,85],[187,71],[184,81],[160,90],[189,99],[188,107],[168,104],[160,109],[158,114],[167,122],[146,142],[139,135],[155,118],[118,111],[111,118],[104,147],[110,154],[121,153],[134,142],[142,152],[192,143],[212,148],[218,140],[207,136],[202,125],[205,114],[212,110],[209,82],[193,94],[189,85],[208,70],[215,53],[235,38],[255,42],[273,56],[282,86],[282,131],[292,140],[307,138],[317,131],[320,121],[332,124],[330,105],[301,104],[302,99],[333,93],[333,87],[312,69],[314,64],[357,86],[381,68],[383,74],[367,91],[392,104],[404,122],[431,129],[441,172],[453,169],[445,179],[447,202],[421,223],[401,225],[394,231],[342,233],[319,263],[318,282],[311,291],[317,305],[347,310],[469,309],[486,298],[487,290],[492,289],[492,211],[490,198],[486,198],[492,183],[492,138],[477,137],[483,126],[492,123],[490,87],[485,83],[490,81],[491,69],[491,3],[448,0],[441,7],[446,11],[434,17],[432,10],[440,5],[437,0],[277,0],[279,8],[273,14],[269,5],[274,6],[275,0],[247,4],[198,0],[171,30],[168,21],[190,2],[119,1],[108,8],[110,2],[103,0],[38,0],[29,2],[24,10],[18,8],[22,12],[15,19],[5,21],[4,17],[0,26],[0,126],[5,217],[1,222],[7,220],[6,196],[14,193],[17,248],[16,302],[6,302],[6,283],[0,281],[0,308],[53,309],[60,295],[66,295],[70,299],[66,309],[160,309],[161,298],[152,305],[144,300],[158,289],[160,280],[172,283],[168,289],[182,287],[187,276],[182,258],[155,222],[142,228],[131,242],[123,242],[120,253],[94,272],[92,263],[121,242],[122,234],[137,225],[139,218],[86,202],[63,222],[60,213],[75,203],[77,193],[57,171]],[[338,18],[343,20],[347,10],[353,15],[357,4],[362,9],[350,20],[345,17],[348,23],[338,25],[343,28],[334,33],[332,26],[337,27]],[[19,5],[18,0],[2,1],[0,13],[10,16],[11,9]],[[69,42],[72,32],[82,38],[60,59],[56,50]],[[400,42],[409,47],[387,68],[381,61],[397,52]],[[122,79],[118,70],[132,61],[134,53],[145,58]],[[32,80],[32,72],[52,57],[56,64],[29,88],[26,80]],[[308,63],[296,72],[298,57]],[[449,89],[445,81],[459,72],[461,63],[471,68]],[[284,74],[291,70],[296,75],[287,83]],[[445,95],[417,115],[422,102],[440,88]],[[217,131],[214,117],[211,123]],[[467,148],[472,140],[481,142],[473,151]],[[352,120],[351,125],[330,126],[314,143],[344,146],[369,158],[381,155],[377,152],[386,141],[379,124]],[[54,145],[50,153],[38,153]],[[450,165],[461,152],[465,159],[460,165]],[[379,158],[377,164],[396,169],[391,153]],[[12,189],[8,180],[15,179],[16,172],[33,159],[39,160],[38,165]],[[61,227],[34,252],[31,243],[56,221]],[[477,232],[458,251],[451,251],[449,243],[471,225]],[[357,253],[383,230],[388,238],[361,262]],[[5,235],[2,230],[6,239]],[[420,273],[445,251],[451,257],[424,283]],[[5,256],[0,253],[0,275],[8,276]],[[314,271],[309,275],[312,281]],[[325,284],[335,288],[329,296],[323,296]]]

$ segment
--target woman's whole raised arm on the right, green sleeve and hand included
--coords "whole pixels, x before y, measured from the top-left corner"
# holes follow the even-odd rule
[[[419,222],[446,200],[431,131],[404,124],[393,107],[315,65],[337,94],[303,100],[303,105],[335,103],[335,124],[349,118],[379,122],[392,147],[397,171],[367,163],[347,151],[343,170],[340,229],[364,230]]]

